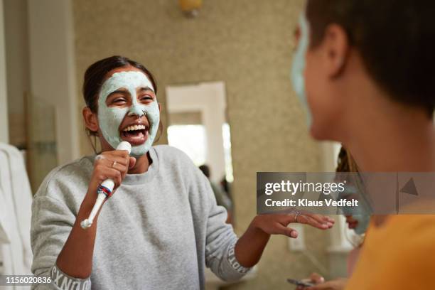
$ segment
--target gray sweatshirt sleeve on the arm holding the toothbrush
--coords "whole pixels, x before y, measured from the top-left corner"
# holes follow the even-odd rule
[[[41,189],[40,189],[41,190]],[[48,187],[45,189],[48,190]],[[56,259],[73,228],[75,215],[65,203],[47,195],[33,199],[31,220],[32,272],[50,277],[50,284],[33,285],[33,290],[89,290],[91,281],[64,274],[56,267]]]

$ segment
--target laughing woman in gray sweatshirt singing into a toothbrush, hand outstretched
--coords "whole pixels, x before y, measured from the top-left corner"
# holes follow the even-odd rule
[[[55,168],[33,201],[33,272],[51,276],[53,289],[203,289],[205,266],[222,279],[240,279],[270,235],[297,237],[291,222],[332,227],[322,215],[262,215],[237,238],[188,156],[153,146],[160,105],[143,65],[120,56],[100,60],[87,69],[83,93],[85,125],[102,152]],[[131,156],[114,150],[122,141]],[[80,221],[107,178],[116,193],[84,230]]]

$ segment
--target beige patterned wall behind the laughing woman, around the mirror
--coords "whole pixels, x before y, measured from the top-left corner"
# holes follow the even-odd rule
[[[301,0],[204,0],[198,18],[188,19],[175,0],[74,1],[80,84],[88,65],[114,54],[138,60],[154,73],[163,107],[167,85],[225,82],[238,234],[255,215],[257,171],[321,170],[318,145],[308,137],[289,79],[302,5]],[[78,91],[77,97],[81,112]],[[84,134],[81,149],[89,152]],[[328,235],[306,232],[308,249],[327,264]],[[314,271],[319,269],[304,254],[289,251],[286,237],[272,237],[257,278],[230,289],[291,289],[287,277]]]

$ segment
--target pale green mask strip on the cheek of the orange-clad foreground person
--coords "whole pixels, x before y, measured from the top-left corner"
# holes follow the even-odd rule
[[[305,55],[308,50],[309,45],[309,24],[306,19],[305,12],[301,14],[299,18],[299,29],[301,36],[299,38],[298,48],[294,55],[293,63],[291,66],[291,83],[293,84],[294,91],[299,97],[299,101],[304,105],[308,114],[308,125],[311,125],[311,112],[306,101],[306,90],[305,90]]]

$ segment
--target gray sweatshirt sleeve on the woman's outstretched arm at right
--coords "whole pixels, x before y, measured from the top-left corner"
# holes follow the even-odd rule
[[[205,240],[205,265],[225,281],[237,281],[250,268],[240,265],[235,257],[237,236],[232,225],[225,223],[227,211],[216,204],[213,190],[207,178],[203,178],[208,199],[208,222]]]

